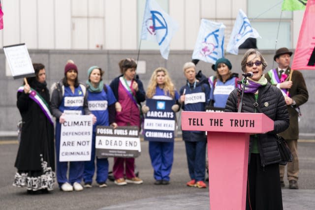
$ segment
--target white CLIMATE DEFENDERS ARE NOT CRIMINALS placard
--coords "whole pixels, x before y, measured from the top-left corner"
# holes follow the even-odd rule
[[[92,150],[93,121],[89,115],[66,115],[61,126],[59,160],[89,161]]]

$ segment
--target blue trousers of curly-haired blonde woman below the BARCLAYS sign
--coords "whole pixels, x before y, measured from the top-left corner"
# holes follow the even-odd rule
[[[169,181],[173,165],[174,142],[149,142],[154,179]]]

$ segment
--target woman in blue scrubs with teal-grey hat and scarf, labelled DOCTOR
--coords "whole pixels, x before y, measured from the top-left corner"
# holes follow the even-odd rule
[[[104,71],[98,66],[92,66],[88,70],[88,80],[86,82],[88,89],[89,110],[95,115],[96,123],[93,125],[93,139],[91,160],[85,161],[84,165],[84,187],[92,187],[92,179],[95,172],[95,132],[96,126],[112,125],[117,127],[115,122],[115,103],[116,98],[112,89],[102,81]],[[107,158],[96,157],[96,182],[99,187],[107,187],[108,160]]]

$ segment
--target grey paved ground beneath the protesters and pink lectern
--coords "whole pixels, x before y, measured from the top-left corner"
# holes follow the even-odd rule
[[[142,154],[136,160],[143,184],[117,186],[107,181],[107,188],[82,192],[62,192],[57,186],[48,194],[29,195],[25,189],[12,186],[16,141],[0,141],[0,209],[102,209],[102,210],[207,210],[209,191],[185,186],[189,180],[185,145],[175,142],[174,165],[169,185],[154,185],[148,154],[148,142],[141,143]],[[315,209],[315,141],[299,142],[300,180],[298,190],[283,190],[285,210]],[[110,168],[112,159],[110,159]],[[285,184],[288,185],[287,180]],[[293,199],[294,198],[294,199]]]

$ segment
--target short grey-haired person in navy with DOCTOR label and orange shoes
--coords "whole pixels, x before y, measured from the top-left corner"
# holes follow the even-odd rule
[[[209,104],[210,87],[208,80],[196,79],[196,66],[187,62],[183,67],[186,85],[180,90],[180,102],[184,111],[204,112]],[[184,131],[186,155],[190,181],[187,186],[206,188],[205,180],[205,159],[206,159],[206,136],[204,131]]]

